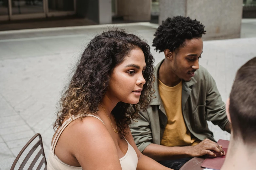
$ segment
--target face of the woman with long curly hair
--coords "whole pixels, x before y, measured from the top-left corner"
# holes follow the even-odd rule
[[[113,102],[137,104],[145,84],[143,72],[146,68],[145,56],[141,49],[131,50],[124,61],[111,74],[107,96]]]

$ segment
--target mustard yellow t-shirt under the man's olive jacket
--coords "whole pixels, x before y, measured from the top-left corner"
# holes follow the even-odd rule
[[[182,115],[182,81],[174,87],[163,84],[158,79],[160,97],[167,116],[167,124],[161,140],[164,146],[194,146],[200,141],[191,138]]]

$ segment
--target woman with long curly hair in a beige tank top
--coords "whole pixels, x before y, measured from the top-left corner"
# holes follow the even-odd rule
[[[48,170],[169,169],[144,156],[129,130],[150,102],[153,62],[149,45],[123,30],[91,40],[60,100]]]

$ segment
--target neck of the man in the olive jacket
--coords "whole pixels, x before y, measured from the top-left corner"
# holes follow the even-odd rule
[[[181,79],[173,72],[167,59],[164,59],[163,63],[161,64],[158,75],[160,81],[169,87],[174,87],[181,81]]]

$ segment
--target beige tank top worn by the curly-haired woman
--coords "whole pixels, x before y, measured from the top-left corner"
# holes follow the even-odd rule
[[[99,119],[98,117],[96,117],[94,115],[85,114],[85,116],[92,116],[92,117],[95,117],[95,118]],[[80,116],[77,115],[77,116],[73,116],[72,118],[73,118],[73,120],[76,120],[77,118],[80,118]],[[99,120],[103,123],[103,121],[101,119],[99,119]],[[57,133],[56,133],[56,135],[55,135],[55,137],[53,139],[53,143],[52,143],[52,145],[50,147],[49,157],[48,157],[48,161],[47,161],[47,170],[78,170],[78,169],[83,169],[82,167],[70,166],[70,165],[68,165],[66,163],[63,163],[55,155],[55,147],[56,147],[57,142],[58,142],[58,140],[60,138],[60,135],[63,132],[63,130],[71,122],[72,122],[72,119],[69,118],[57,130]],[[137,167],[137,164],[138,164],[138,157],[137,157],[137,154],[136,154],[135,150],[133,149],[133,147],[129,144],[128,141],[127,141],[127,143],[128,143],[128,150],[127,150],[125,156],[123,158],[119,159],[120,163],[121,163],[121,167],[122,167],[122,170],[136,170],[136,167]]]

